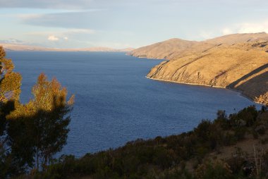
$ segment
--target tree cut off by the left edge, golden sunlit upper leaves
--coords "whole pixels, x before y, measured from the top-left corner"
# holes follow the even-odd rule
[[[10,173],[11,156],[10,148],[7,144],[6,116],[18,105],[20,94],[21,75],[13,72],[11,59],[6,59],[6,52],[0,47],[0,178],[4,178],[6,173]]]

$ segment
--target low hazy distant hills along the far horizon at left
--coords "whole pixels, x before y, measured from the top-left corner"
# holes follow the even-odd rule
[[[90,47],[81,49],[56,49],[47,47],[37,47],[25,44],[0,43],[6,51],[132,51],[133,48],[126,49],[111,49],[108,47]]]

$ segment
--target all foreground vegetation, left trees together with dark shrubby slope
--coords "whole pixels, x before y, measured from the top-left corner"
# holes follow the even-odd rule
[[[53,159],[66,143],[73,100],[44,74],[19,101],[19,73],[0,48],[0,178],[267,178],[268,110],[249,106],[181,135],[135,140],[80,159]],[[66,116],[67,115],[67,116]]]

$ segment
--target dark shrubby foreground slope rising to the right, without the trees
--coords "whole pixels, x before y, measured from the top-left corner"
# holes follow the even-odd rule
[[[61,156],[30,178],[267,178],[268,111],[218,111],[181,135],[135,140],[118,149]]]

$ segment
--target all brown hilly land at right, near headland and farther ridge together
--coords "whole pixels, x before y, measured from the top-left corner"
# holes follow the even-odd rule
[[[174,39],[173,39],[174,40]],[[166,41],[131,51],[133,56],[166,58],[152,68],[147,77],[155,80],[182,82],[239,90],[252,100],[267,104],[268,35],[236,34],[205,42],[178,43]],[[178,39],[177,39],[178,42]],[[167,45],[169,44],[169,45]],[[186,45],[187,44],[187,45]],[[162,50],[162,47],[166,47]],[[167,47],[172,47],[171,50]],[[155,53],[157,51],[157,53]],[[159,56],[161,52],[171,55]]]

